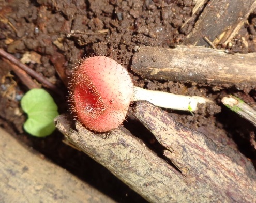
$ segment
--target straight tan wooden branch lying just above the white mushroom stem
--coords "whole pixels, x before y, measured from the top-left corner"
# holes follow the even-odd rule
[[[142,46],[131,69],[143,78],[200,83],[255,84],[256,53],[227,54],[201,46]]]

